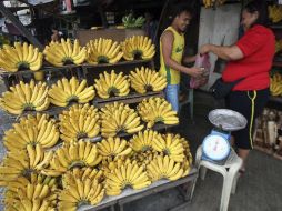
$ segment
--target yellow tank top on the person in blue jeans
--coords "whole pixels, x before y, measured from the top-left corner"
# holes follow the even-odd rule
[[[171,31],[173,33],[174,40],[172,44],[171,59],[181,63],[182,56],[184,51],[184,34],[179,33],[172,27],[168,27],[164,31]],[[160,41],[160,59],[161,59],[161,68],[160,73],[167,77],[168,84],[179,84],[180,83],[180,71],[173,70],[170,67],[164,64],[163,56],[162,56],[162,42]]]

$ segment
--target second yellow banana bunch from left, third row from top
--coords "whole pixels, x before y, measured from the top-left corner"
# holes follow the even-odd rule
[[[99,112],[93,105],[73,104],[59,115],[61,139],[67,142],[94,138],[100,132]]]

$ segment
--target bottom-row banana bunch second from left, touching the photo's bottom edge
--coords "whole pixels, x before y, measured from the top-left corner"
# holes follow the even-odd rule
[[[95,169],[74,168],[62,177],[63,189],[59,192],[59,211],[75,211],[80,205],[95,205],[104,197],[104,187]],[[91,175],[92,174],[92,175]]]

